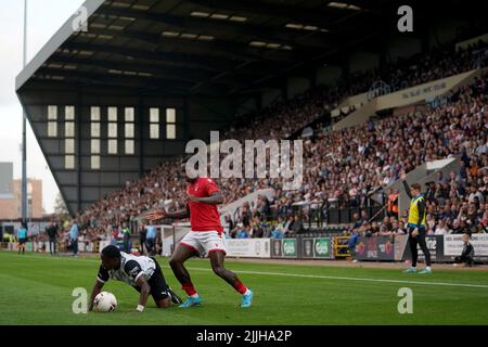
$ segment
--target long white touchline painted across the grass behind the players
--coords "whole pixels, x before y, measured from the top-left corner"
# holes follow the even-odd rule
[[[24,256],[36,259],[49,259],[49,260],[82,260],[89,262],[100,262],[95,259],[79,259],[73,257],[39,257],[39,256]],[[170,269],[168,266],[162,266],[162,268]],[[211,272],[211,269],[206,268],[187,268],[188,270],[207,271]],[[283,273],[283,272],[267,272],[267,271],[249,271],[249,270],[232,270],[236,273],[247,274],[262,274],[262,275],[279,275],[290,278],[307,278],[307,279],[323,279],[323,280],[342,280],[342,281],[360,281],[360,282],[380,282],[380,283],[399,283],[399,284],[420,284],[420,285],[437,285],[437,286],[455,286],[455,287],[470,287],[470,288],[484,288],[488,290],[488,285],[485,284],[468,284],[468,283],[448,283],[448,282],[422,282],[422,281],[407,281],[407,280],[387,280],[387,279],[368,279],[368,278],[346,278],[336,275],[322,275],[322,274],[305,274],[305,273]],[[428,277],[428,274],[426,274]]]

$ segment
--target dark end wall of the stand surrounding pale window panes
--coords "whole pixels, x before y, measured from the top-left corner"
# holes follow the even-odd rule
[[[190,138],[207,140],[234,117],[234,103],[217,98],[101,98],[91,91],[33,91],[24,94],[29,123],[72,214],[137,179],[165,157],[180,155]],[[48,137],[48,105],[57,106],[57,136]],[[65,106],[75,106],[75,169],[65,168]],[[100,169],[91,169],[91,106],[100,106]],[[107,107],[117,107],[117,154],[108,154]],[[134,108],[134,154],[125,154],[124,108]],[[150,108],[159,108],[159,139],[150,139]],[[177,138],[166,139],[165,108],[176,110]]]

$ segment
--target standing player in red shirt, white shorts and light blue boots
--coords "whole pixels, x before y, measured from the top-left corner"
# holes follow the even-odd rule
[[[187,178],[187,181],[189,184],[185,209],[167,213],[163,208],[158,208],[146,215],[149,220],[190,218],[191,231],[178,244],[169,260],[176,278],[189,296],[187,301],[180,305],[180,308],[202,305],[202,298],[184,267],[184,261],[194,255],[208,255],[214,272],[242,295],[241,307],[247,308],[253,304],[253,292],[239,280],[235,273],[227,270],[223,266],[226,244],[223,228],[217,210],[217,205],[223,202],[222,194],[214,180],[209,178]]]

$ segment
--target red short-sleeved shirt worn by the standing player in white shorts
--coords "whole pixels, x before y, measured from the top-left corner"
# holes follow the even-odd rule
[[[198,177],[193,183],[187,187],[187,193],[197,197],[210,196],[218,191],[219,188],[215,184],[214,180],[204,177]],[[223,231],[217,205],[189,202],[188,206],[190,208],[192,231]]]

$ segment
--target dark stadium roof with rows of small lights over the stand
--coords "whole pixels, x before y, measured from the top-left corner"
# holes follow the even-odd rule
[[[426,2],[415,9],[425,10]],[[16,90],[43,81],[187,95],[246,93],[294,70],[341,61],[358,44],[369,42],[373,51],[396,27],[391,18],[400,4],[89,0],[88,31],[76,29],[74,14],[18,75]],[[428,20],[416,11],[415,24]]]

